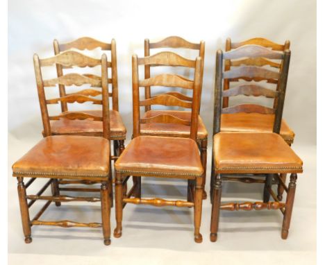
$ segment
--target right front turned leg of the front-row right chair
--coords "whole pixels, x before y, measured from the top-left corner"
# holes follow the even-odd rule
[[[287,239],[289,234],[292,208],[294,203],[294,194],[296,192],[296,182],[297,182],[297,174],[292,173],[290,176],[287,199],[285,201],[285,214],[283,216],[282,232],[281,232],[282,239]]]

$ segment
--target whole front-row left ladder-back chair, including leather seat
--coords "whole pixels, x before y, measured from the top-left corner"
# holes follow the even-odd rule
[[[44,80],[41,67],[61,65],[63,67],[95,67],[101,65],[101,76],[90,78],[81,74],[66,74],[58,78]],[[110,196],[112,193],[112,180],[110,174],[110,112],[108,103],[108,76],[107,58],[102,55],[101,60],[90,58],[76,51],[65,51],[52,58],[42,59],[34,55],[34,67],[42,122],[44,126],[44,138],[31,148],[26,155],[12,165],[12,176],[18,180],[18,196],[25,242],[31,243],[31,227],[33,225],[56,225],[63,228],[89,227],[103,228],[104,243],[110,244]],[[44,87],[53,87],[56,84],[90,84],[101,87],[103,99],[94,99],[85,94],[66,94],[56,99],[46,99]],[[101,117],[87,112],[63,112],[56,116],[49,116],[48,105],[59,101],[73,103],[90,101],[103,106]],[[93,119],[103,123],[103,136],[81,136],[81,135],[53,135],[51,122],[58,119]],[[24,178],[31,178],[26,185]],[[48,178],[47,183],[35,195],[27,195],[26,189],[36,178]],[[58,188],[59,180],[71,182],[100,182],[101,189],[88,191],[99,192],[100,197],[72,197],[60,194]],[[49,186],[52,186],[53,196],[42,196]],[[29,203],[28,203],[29,200]],[[29,208],[36,200],[47,200],[40,212],[33,219],[29,216]],[[78,223],[76,221],[41,221],[40,217],[47,210],[51,202],[87,201],[101,202],[102,223]]]

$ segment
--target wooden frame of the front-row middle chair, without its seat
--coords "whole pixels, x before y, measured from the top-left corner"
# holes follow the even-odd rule
[[[169,66],[184,66],[195,69],[194,80],[188,80],[181,76],[172,74],[158,75],[153,78],[145,78],[139,80],[138,66],[139,65],[169,65]],[[141,137],[140,126],[141,123],[150,122],[167,122],[167,123],[182,123],[190,126],[190,138],[196,141],[197,126],[199,117],[199,103],[201,101],[201,58],[197,60],[188,60],[176,53],[162,52],[156,55],[151,55],[144,58],[138,58],[137,55],[132,57],[132,80],[133,80],[133,137]],[[140,101],[139,88],[146,87],[146,85],[159,86],[180,86],[193,89],[192,102],[184,101],[181,96],[174,96],[172,94],[159,94]],[[185,108],[192,109],[192,116],[190,121],[185,121],[169,114],[159,114],[156,117],[146,119],[140,118],[140,106],[147,105],[178,105]],[[123,185],[128,180],[129,176],[133,176],[133,187],[130,191],[124,192]],[[188,179],[190,186],[190,200],[165,200],[163,198],[142,198],[141,197],[141,177],[155,177],[155,178],[178,178]],[[115,168],[115,211],[117,227],[114,230],[115,237],[122,236],[122,212],[126,203],[144,204],[153,206],[167,206],[173,205],[176,207],[194,207],[194,239],[197,243],[202,241],[202,236],[199,232],[201,225],[201,211],[202,211],[202,196],[203,196],[203,176],[171,176],[165,173],[139,173],[137,171],[120,172]],[[133,198],[131,198],[133,197]]]

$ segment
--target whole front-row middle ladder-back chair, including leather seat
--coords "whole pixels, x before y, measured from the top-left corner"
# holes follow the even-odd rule
[[[160,74],[139,80],[138,65],[169,65],[192,67],[195,69],[194,80],[174,74]],[[194,239],[202,241],[199,232],[201,225],[203,166],[197,146],[197,126],[199,120],[199,102],[201,99],[201,58],[188,60],[176,53],[162,52],[144,58],[133,55],[133,139],[126,146],[122,155],[115,162],[115,211],[117,227],[115,237],[122,236],[122,210],[126,203],[153,206],[174,205],[194,207]],[[140,101],[139,87],[147,86],[183,87],[192,90],[192,101],[184,101],[181,93],[165,93]],[[157,114],[153,117],[140,118],[140,106],[167,105],[191,109],[190,119],[181,119],[172,114]],[[142,135],[141,127],[148,123],[181,123],[190,127],[188,137],[163,137]],[[164,200],[163,198],[141,198],[141,182],[135,181],[130,191],[123,195],[122,184],[133,176],[178,178],[190,182],[190,200]],[[194,187],[195,186],[195,187]],[[134,198],[131,198],[131,197]]]

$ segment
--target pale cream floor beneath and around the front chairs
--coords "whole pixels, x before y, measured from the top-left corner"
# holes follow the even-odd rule
[[[38,139],[21,142],[8,135],[8,253],[10,264],[315,264],[316,263],[316,147],[293,145],[304,162],[298,176],[292,223],[287,240],[281,239],[282,215],[278,211],[222,212],[218,241],[211,243],[210,200],[203,201],[201,234],[203,243],[194,243],[193,209],[127,205],[123,235],[112,236],[104,246],[99,228],[57,228],[36,226],[33,243],[25,244],[19,213],[16,179],[10,166]],[[208,150],[210,169],[210,149]],[[130,180],[131,182],[131,180]],[[210,174],[206,190],[209,191]],[[36,192],[44,180],[36,180]],[[174,185],[171,185],[173,184]],[[186,182],[144,180],[144,196],[186,198]],[[261,200],[262,185],[226,183],[222,200]],[[31,217],[43,203],[35,203]],[[78,207],[82,205],[81,207]],[[33,206],[34,207],[34,206]],[[32,208],[33,208],[32,207]],[[100,222],[99,203],[51,205],[42,220]],[[115,211],[111,214],[112,234]]]

